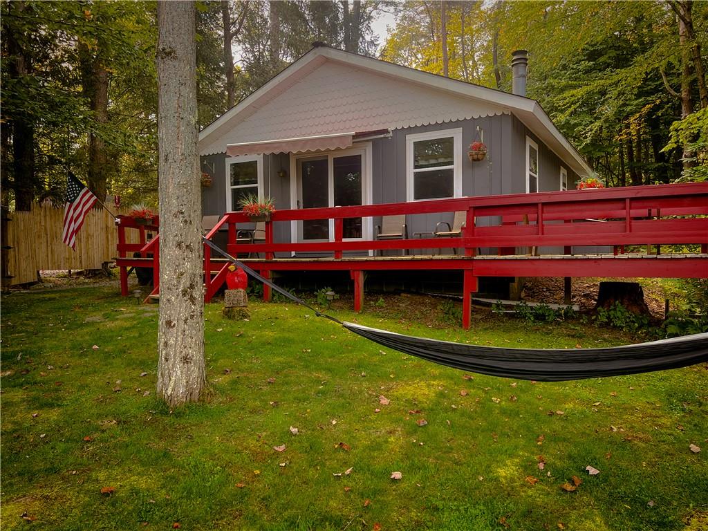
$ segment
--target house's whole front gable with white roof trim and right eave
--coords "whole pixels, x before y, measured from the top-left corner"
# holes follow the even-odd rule
[[[590,172],[535,100],[322,45],[207,125],[199,151],[498,114],[515,115],[579,175]]]

